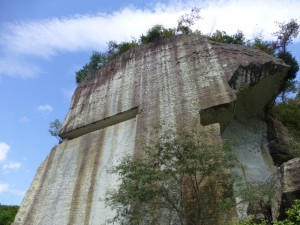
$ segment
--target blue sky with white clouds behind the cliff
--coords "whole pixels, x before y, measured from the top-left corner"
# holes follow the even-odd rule
[[[298,0],[0,0],[0,203],[21,204],[57,140],[49,123],[64,120],[75,71],[107,42],[129,41],[155,24],[175,27],[191,7],[195,29],[272,39],[274,21],[300,22]],[[300,38],[290,50],[300,61]]]

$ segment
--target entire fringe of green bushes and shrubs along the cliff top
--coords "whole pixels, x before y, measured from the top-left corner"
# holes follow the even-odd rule
[[[238,31],[233,35],[228,35],[225,31],[219,30],[216,30],[210,35],[204,35],[199,30],[193,31],[191,27],[201,18],[199,13],[200,9],[195,7],[191,10],[190,14],[185,14],[179,18],[176,28],[165,28],[162,25],[155,25],[147,31],[146,35],[141,35],[138,40],[133,38],[131,42],[121,43],[110,41],[108,43],[107,52],[94,51],[90,57],[90,61],[76,72],[76,82],[80,83],[86,77],[95,75],[97,70],[103,67],[107,62],[129,49],[174,35],[196,33],[221,43],[258,48],[267,54],[283,59],[286,64],[290,65],[290,69],[281,86],[280,93],[282,97],[286,96],[286,93],[295,87],[295,78],[299,70],[299,65],[295,57],[287,51],[287,46],[292,43],[293,38],[296,38],[299,34],[299,24],[296,20],[291,19],[288,23],[276,22],[279,30],[273,33],[276,37],[275,41],[265,41],[262,36],[255,37],[253,40],[246,40],[242,31]]]

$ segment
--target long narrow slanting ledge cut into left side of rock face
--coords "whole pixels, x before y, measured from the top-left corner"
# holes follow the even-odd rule
[[[83,136],[85,134],[91,133],[96,130],[101,130],[109,126],[116,125],[118,123],[124,122],[126,120],[133,119],[138,114],[138,107],[134,107],[132,109],[129,109],[127,111],[117,113],[113,116],[106,117],[102,120],[95,121],[93,123],[90,123],[88,125],[76,128],[72,131],[62,133],[59,136],[62,139],[73,139],[80,136]]]

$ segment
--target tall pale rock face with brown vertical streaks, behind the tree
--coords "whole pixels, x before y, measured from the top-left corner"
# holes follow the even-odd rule
[[[163,132],[201,121],[215,130],[212,139],[235,141],[245,182],[267,179],[273,162],[265,107],[287,69],[258,50],[196,35],[116,57],[78,85],[61,128],[63,141],[37,171],[14,224],[104,223],[114,215],[104,193],[118,184],[107,169],[143,151],[140,143],[151,139],[147,130],[158,124]]]

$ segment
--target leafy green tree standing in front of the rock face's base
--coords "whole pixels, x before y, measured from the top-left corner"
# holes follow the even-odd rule
[[[209,134],[208,134],[209,135]],[[213,224],[233,206],[234,158],[203,132],[166,133],[113,167],[120,186],[107,192],[120,224]]]

